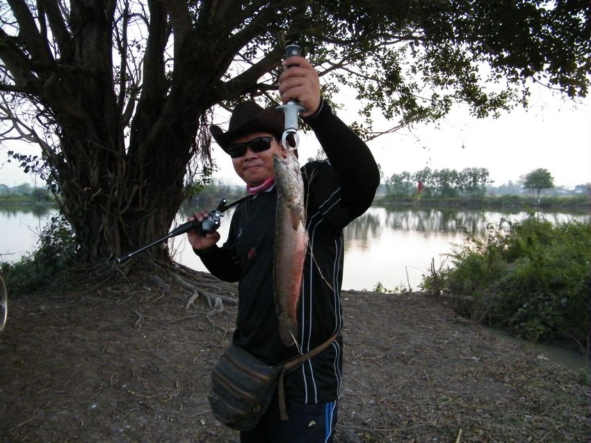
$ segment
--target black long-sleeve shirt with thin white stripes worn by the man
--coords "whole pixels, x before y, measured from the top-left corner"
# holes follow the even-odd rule
[[[302,352],[341,330],[343,227],[366,211],[380,176],[366,144],[337,118],[325,102],[305,119],[327,160],[302,168],[309,253],[298,305],[298,346]],[[282,344],[273,296],[273,241],[276,188],[240,204],[222,247],[197,252],[221,280],[238,281],[238,316],[234,344],[268,364],[297,353]],[[339,396],[342,339],[286,376],[287,396],[302,403],[326,403]]]

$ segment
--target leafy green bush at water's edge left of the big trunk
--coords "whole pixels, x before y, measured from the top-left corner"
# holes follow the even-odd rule
[[[62,216],[51,217],[39,239],[35,252],[15,264],[0,263],[0,273],[10,293],[26,293],[50,287],[55,277],[67,271],[78,251],[70,225]]]

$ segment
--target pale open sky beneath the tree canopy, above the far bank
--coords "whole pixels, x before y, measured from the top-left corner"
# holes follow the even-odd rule
[[[354,97],[339,97],[348,104],[337,115],[346,123],[355,120],[350,104]],[[214,121],[222,124],[226,118]],[[378,123],[385,129],[387,122]],[[419,124],[395,134],[380,136],[368,143],[384,177],[403,171],[416,172],[425,167],[487,168],[493,186],[519,178],[537,168],[551,172],[556,186],[574,188],[591,182],[591,96],[579,101],[553,95],[546,88],[534,88],[528,109],[515,108],[500,118],[479,120],[460,106],[437,124]],[[318,143],[313,135],[300,140],[300,163],[316,156]],[[0,183],[16,186],[35,184],[17,165],[6,163],[8,148],[0,147]],[[28,149],[37,153],[35,148]],[[25,152],[26,149],[19,148]],[[213,147],[218,168],[216,179],[225,184],[242,184],[232,161],[220,147]],[[37,185],[41,186],[40,180]]]

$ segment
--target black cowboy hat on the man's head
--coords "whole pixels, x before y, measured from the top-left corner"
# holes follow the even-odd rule
[[[276,109],[276,106],[262,108],[254,102],[245,102],[236,105],[226,132],[216,124],[209,127],[211,136],[226,150],[228,145],[237,137],[254,132],[268,132],[281,139],[284,129],[284,113]]]

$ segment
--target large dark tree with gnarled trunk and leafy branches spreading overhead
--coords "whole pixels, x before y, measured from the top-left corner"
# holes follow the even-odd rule
[[[106,264],[168,231],[216,105],[277,97],[282,40],[326,97],[357,90],[371,138],[373,108],[396,129],[526,104],[532,81],[584,97],[590,16],[584,0],[7,0],[0,134],[40,145],[83,259]]]

